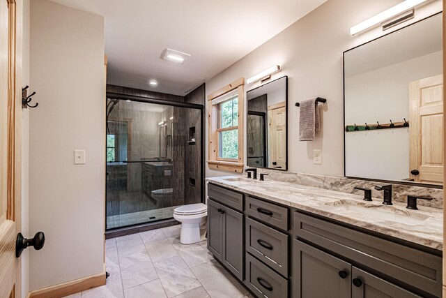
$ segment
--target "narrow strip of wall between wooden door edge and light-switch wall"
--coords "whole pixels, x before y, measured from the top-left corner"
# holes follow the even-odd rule
[[[29,0],[23,1],[22,87],[29,85]],[[29,234],[29,109],[22,109],[22,234]],[[22,253],[22,297],[29,292],[29,249]]]

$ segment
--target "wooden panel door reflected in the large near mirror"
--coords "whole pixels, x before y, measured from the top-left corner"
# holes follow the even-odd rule
[[[410,178],[443,184],[443,75],[409,84]]]

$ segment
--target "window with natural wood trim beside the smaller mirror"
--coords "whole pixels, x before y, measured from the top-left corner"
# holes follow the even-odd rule
[[[208,166],[243,170],[243,84],[241,78],[208,96]]]

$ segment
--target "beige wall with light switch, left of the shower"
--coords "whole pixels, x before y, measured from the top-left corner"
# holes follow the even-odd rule
[[[29,290],[103,271],[105,229],[104,18],[31,1]],[[73,165],[73,150],[86,164]]]

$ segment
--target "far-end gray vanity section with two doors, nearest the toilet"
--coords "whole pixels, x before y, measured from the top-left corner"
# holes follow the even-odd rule
[[[230,202],[228,205],[237,206],[233,198],[240,198],[243,206],[243,195],[211,184],[208,195],[208,249],[226,269],[243,281],[243,214],[222,204]]]

